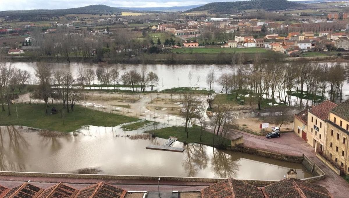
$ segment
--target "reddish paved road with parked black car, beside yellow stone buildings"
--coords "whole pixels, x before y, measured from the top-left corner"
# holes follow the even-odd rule
[[[244,136],[244,145],[253,148],[265,149],[288,155],[306,155],[319,168],[325,172],[325,179],[315,182],[321,186],[325,186],[335,198],[349,197],[349,183],[334,171],[328,168],[315,155],[315,150],[307,144],[302,138],[293,132],[282,133],[280,138],[266,139],[264,136],[253,135],[242,131],[234,131],[232,135],[242,134]]]

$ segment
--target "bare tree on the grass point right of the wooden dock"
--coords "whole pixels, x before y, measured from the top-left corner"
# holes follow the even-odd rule
[[[202,111],[205,110],[200,97],[194,96],[193,94],[184,95],[182,102],[182,109],[180,115],[185,119],[185,132],[187,132],[188,138],[188,125],[191,120],[198,117]]]

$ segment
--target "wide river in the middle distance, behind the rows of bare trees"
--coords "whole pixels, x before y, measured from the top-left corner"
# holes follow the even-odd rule
[[[11,63],[13,66],[29,71],[31,74],[34,74],[34,68],[37,63]],[[136,69],[141,71],[142,67],[146,69],[147,72],[153,71],[159,77],[159,81],[155,83],[155,90],[161,91],[164,89],[176,88],[176,87],[196,87],[199,89],[206,88],[208,85],[206,83],[206,76],[209,73],[211,68],[215,69],[216,78],[219,78],[223,73],[232,73],[231,65],[133,65],[133,64],[89,64],[89,63],[48,63],[52,65],[53,69],[66,69],[69,70],[74,77],[76,77],[77,71],[80,67],[91,68],[96,70],[98,67],[107,67],[107,68],[118,68],[120,77],[124,72],[130,71],[131,69]],[[319,63],[325,64],[325,63]],[[332,63],[328,63],[331,65]],[[333,63],[335,64],[335,63]],[[191,80],[188,78],[189,72],[192,72],[193,76]],[[121,80],[120,80],[121,81]],[[29,83],[35,83],[35,79],[32,78]],[[121,83],[121,82],[119,82]],[[97,79],[95,79],[94,84],[97,84]],[[93,89],[99,89],[98,87],[93,87]],[[105,89],[105,88],[104,88]],[[110,88],[108,88],[110,89]],[[113,88],[111,88],[113,89]],[[119,87],[117,89],[127,89],[131,90],[130,87]],[[214,83],[213,89],[217,93],[221,92],[222,86],[217,82]],[[140,88],[136,88],[135,91],[140,91]],[[146,87],[146,90],[149,91],[150,87]],[[275,92],[275,97],[278,96],[277,91]],[[328,94],[325,94],[326,97],[329,97]],[[346,83],[343,86],[343,101],[349,98],[349,85]],[[284,100],[282,94],[281,100]],[[279,101],[279,99],[276,99]],[[337,101],[340,102],[340,101]],[[302,103],[305,105],[306,100],[302,100]],[[299,99],[297,97],[291,96],[291,104],[299,104]],[[312,104],[312,101],[309,101],[309,105]]]

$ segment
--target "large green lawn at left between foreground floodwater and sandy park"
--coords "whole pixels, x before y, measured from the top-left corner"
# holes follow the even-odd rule
[[[61,109],[61,105],[51,105],[57,110]],[[0,111],[0,125],[21,125],[35,127],[39,129],[71,132],[80,129],[82,126],[117,126],[127,122],[135,122],[139,119],[127,117],[113,113],[107,113],[97,110],[84,108],[80,105],[75,105],[74,111],[67,113],[64,110],[64,118],[61,118],[60,113],[45,114],[45,105],[40,104],[18,104],[18,118],[16,116],[15,105],[11,105],[11,116],[7,116],[6,111]],[[49,111],[51,112],[51,111]]]

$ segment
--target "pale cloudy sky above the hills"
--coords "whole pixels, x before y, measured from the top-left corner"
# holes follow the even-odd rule
[[[206,4],[229,0],[0,0],[0,11],[60,9],[104,4],[112,7],[170,7]]]

